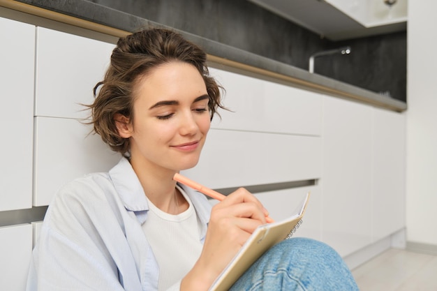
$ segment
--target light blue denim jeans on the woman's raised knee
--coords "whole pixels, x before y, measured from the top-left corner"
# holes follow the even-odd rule
[[[267,251],[232,291],[355,291],[355,280],[334,249],[313,239],[286,239]]]

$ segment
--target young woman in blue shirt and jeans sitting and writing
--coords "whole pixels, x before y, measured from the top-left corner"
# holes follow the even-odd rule
[[[267,211],[240,188],[211,207],[172,177],[194,167],[221,105],[206,54],[177,33],[121,38],[90,105],[94,130],[121,155],[50,204],[27,290],[208,290]],[[288,239],[232,290],[357,290],[339,255]]]

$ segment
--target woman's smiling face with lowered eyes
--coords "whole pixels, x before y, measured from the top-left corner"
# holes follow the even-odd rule
[[[198,70],[177,61],[158,66],[138,81],[134,96],[131,163],[149,170],[194,167],[210,126],[207,88]]]

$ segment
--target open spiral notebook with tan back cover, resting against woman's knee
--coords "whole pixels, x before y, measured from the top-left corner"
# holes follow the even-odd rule
[[[306,204],[310,193],[306,193],[304,200],[299,204],[294,214],[283,221],[276,221],[266,225],[260,225],[251,237],[239,250],[237,255],[230,261],[228,267],[216,278],[209,291],[226,291],[244,274],[246,269],[256,261],[269,248],[284,239],[289,239],[302,223]]]

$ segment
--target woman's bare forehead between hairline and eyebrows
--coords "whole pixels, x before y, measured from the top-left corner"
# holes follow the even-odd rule
[[[177,61],[150,70],[134,86],[135,98],[145,103],[195,98],[206,93],[205,81],[197,68]]]

